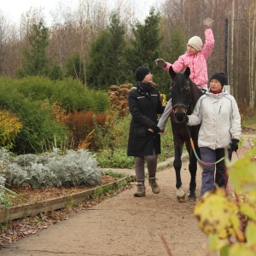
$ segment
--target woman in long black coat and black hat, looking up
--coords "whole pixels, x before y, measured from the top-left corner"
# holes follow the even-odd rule
[[[157,114],[165,107],[160,102],[160,92],[152,85],[153,75],[148,67],[138,67],[135,72],[137,84],[129,92],[128,102],[131,113],[127,155],[134,156],[137,177],[137,192],[134,196],[145,196],[145,169],[148,167],[148,183],[154,194],[160,193],[156,183],[157,156],[160,154],[160,128]]]

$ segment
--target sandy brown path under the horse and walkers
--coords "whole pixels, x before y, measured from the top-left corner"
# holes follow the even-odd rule
[[[241,155],[240,155],[241,157]],[[233,154],[233,160],[237,155]],[[131,172],[132,170],[127,170]],[[195,202],[180,203],[176,198],[173,168],[157,172],[160,194],[149,189],[137,198],[131,190],[102,201],[34,236],[16,241],[0,250],[0,255],[90,255],[90,256],[212,256],[207,236],[193,215]],[[183,163],[183,189],[189,189],[188,161]],[[197,191],[201,169],[197,172]],[[231,187],[231,184],[230,184]],[[166,244],[165,244],[166,242]],[[171,253],[168,253],[168,247]]]

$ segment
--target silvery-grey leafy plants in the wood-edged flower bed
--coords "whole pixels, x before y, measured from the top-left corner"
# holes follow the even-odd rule
[[[102,172],[96,157],[88,150],[67,150],[61,154],[55,150],[45,154],[24,154],[15,157],[9,151],[0,150],[2,171],[9,187],[42,186],[95,186],[102,182]]]

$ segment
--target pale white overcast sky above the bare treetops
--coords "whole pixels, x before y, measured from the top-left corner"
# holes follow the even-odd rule
[[[97,0],[94,0],[95,2]],[[117,0],[105,0],[105,3],[114,6]],[[164,0],[130,0],[125,1],[131,3],[136,10],[137,18],[142,16],[142,20],[149,14],[149,9],[152,6],[159,6]],[[68,5],[72,9],[76,9],[79,0],[0,0],[0,12],[5,17],[9,17],[10,21],[20,22],[20,17],[25,14],[31,7],[43,8],[44,17],[50,17],[50,12],[54,12],[59,3]],[[100,1],[102,3],[102,1]],[[50,19],[50,18],[49,18]]]

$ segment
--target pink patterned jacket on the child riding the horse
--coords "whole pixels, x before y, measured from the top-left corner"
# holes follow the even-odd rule
[[[205,30],[206,44],[203,45],[201,51],[195,53],[195,55],[189,55],[186,52],[184,55],[178,57],[177,61],[173,64],[166,62],[164,67],[166,72],[169,72],[169,68],[172,65],[173,70],[178,73],[183,71],[186,67],[190,68],[189,78],[197,84],[198,88],[207,88],[208,72],[207,72],[207,59],[212,54],[214,48],[214,37],[212,29],[207,28]]]

